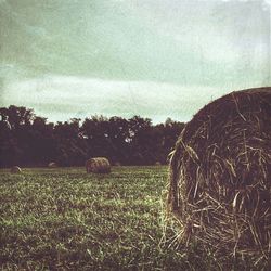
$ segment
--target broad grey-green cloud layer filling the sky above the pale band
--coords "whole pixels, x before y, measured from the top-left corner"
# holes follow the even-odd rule
[[[269,65],[268,14],[257,1],[41,2],[0,9],[0,62],[33,77],[221,86],[261,80]]]

